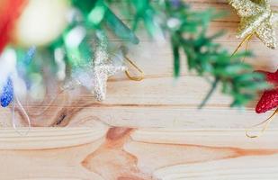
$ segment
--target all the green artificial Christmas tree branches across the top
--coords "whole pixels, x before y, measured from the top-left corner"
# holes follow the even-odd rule
[[[229,94],[232,97],[231,106],[245,105],[253,99],[257,90],[267,86],[262,74],[254,73],[251,65],[242,62],[243,58],[251,57],[251,53],[231,54],[229,50],[215,42],[221,32],[213,36],[207,35],[209,23],[220,15],[216,14],[214,10],[195,12],[188,4],[180,0],[117,2],[115,8],[118,8],[122,14],[128,14],[129,18],[133,20],[130,24],[132,29],[130,29],[113,13],[112,1],[68,1],[71,3],[68,5],[68,9],[71,10],[72,17],[65,23],[67,26],[65,25],[65,28],[61,29],[62,32],[55,40],[48,40],[49,43],[45,42],[45,44],[40,42],[41,48],[36,52],[34,58],[43,59],[41,61],[48,63],[53,71],[59,70],[56,62],[62,61],[71,70],[69,78],[72,78],[73,81],[80,81],[83,79],[81,77],[89,76],[89,71],[92,69],[88,67],[94,69],[95,50],[92,49],[92,41],[95,40],[109,46],[106,34],[107,31],[112,31],[121,40],[137,44],[139,39],[135,32],[139,31],[139,23],[142,23],[144,24],[142,29],[148,31],[153,39],[165,37],[170,41],[175,77],[180,76],[181,60],[186,60],[189,70],[196,72],[199,76],[205,78],[209,76],[211,79],[215,79],[214,82],[211,82],[212,88],[201,103],[201,107],[208,101],[217,85],[221,85],[223,94]],[[128,8],[122,8],[121,4],[125,4]],[[67,9],[67,4],[65,5],[65,7],[62,6],[62,10]],[[102,38],[103,36],[105,38]],[[23,49],[27,54],[30,47],[12,46],[12,49],[14,51]],[[102,53],[108,57],[108,49],[105,48],[103,51]],[[61,59],[57,56],[58,52],[61,52]],[[182,53],[184,53],[185,59],[182,59]],[[16,55],[15,58],[18,62],[22,61],[20,56]],[[27,75],[23,76],[29,80],[31,78],[28,76],[30,77],[34,73],[38,74],[40,71],[38,69],[44,67],[44,64],[38,63],[38,59],[32,58],[31,63],[24,67],[28,71],[25,72]],[[63,78],[63,80],[68,79]],[[83,82],[83,85],[88,86],[92,80],[94,79]]]

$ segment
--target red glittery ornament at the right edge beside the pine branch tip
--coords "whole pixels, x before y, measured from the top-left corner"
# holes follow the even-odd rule
[[[278,107],[278,70],[274,73],[257,71],[265,74],[266,81],[274,85],[274,89],[266,90],[262,95],[260,101],[256,104],[256,112],[267,112]]]

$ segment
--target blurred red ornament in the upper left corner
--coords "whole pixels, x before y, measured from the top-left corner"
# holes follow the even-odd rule
[[[4,0],[0,3],[0,53],[11,39],[16,19],[27,0]]]

